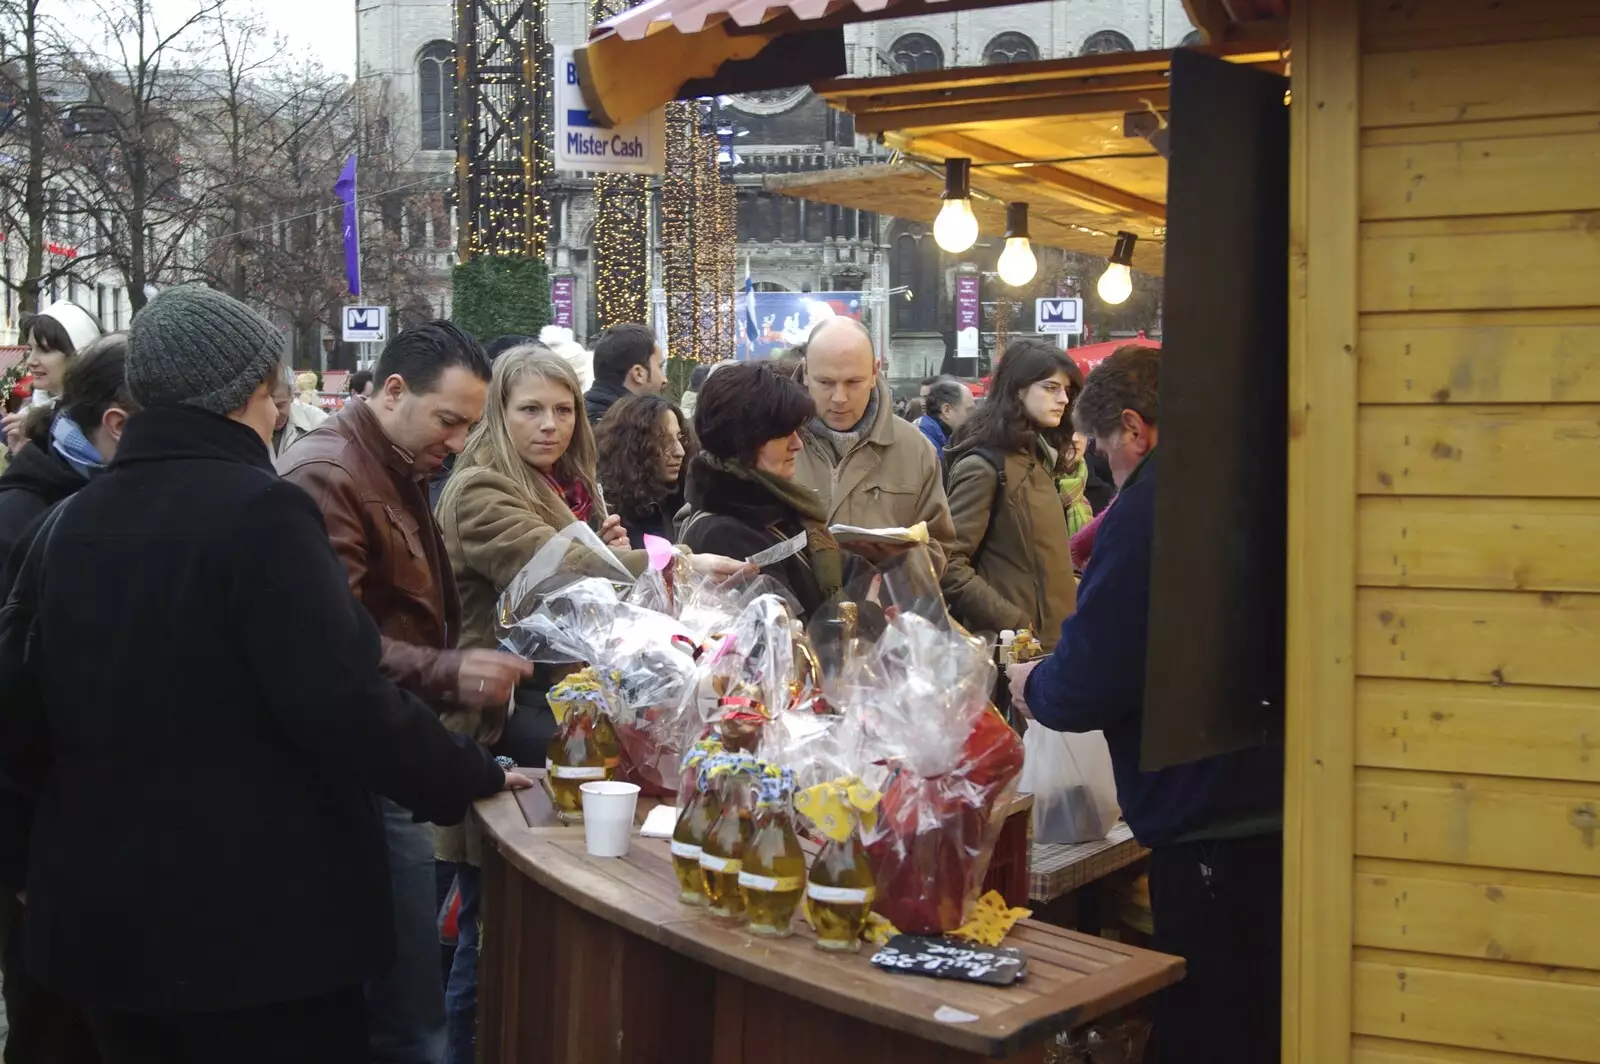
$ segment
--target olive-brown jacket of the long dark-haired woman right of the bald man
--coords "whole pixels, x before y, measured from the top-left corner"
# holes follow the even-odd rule
[[[1053,648],[1078,594],[1054,478],[1037,451],[1006,454],[1005,494],[984,542],[998,474],[982,454],[963,451],[950,466],[955,550],[942,581],[950,613],[973,632],[1032,629],[1046,650]]]

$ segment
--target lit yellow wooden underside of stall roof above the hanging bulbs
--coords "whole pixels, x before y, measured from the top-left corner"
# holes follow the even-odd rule
[[[1211,48],[1232,62],[1282,70],[1259,45]],[[1005,232],[1003,203],[1029,203],[1038,243],[1107,254],[1118,230],[1139,237],[1134,266],[1160,274],[1166,232],[1170,51],[1114,53],[840,78],[816,91],[880,134],[907,162],[766,179],[766,187],[840,206],[933,221],[946,158],[970,158],[984,234]],[[1154,136],[1152,136],[1154,134]]]

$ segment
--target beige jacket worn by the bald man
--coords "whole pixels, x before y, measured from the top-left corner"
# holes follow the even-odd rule
[[[910,528],[928,522],[934,568],[942,570],[955,542],[944,475],[933,443],[917,426],[894,416],[888,381],[878,378],[878,411],[872,427],[843,461],[810,426],[800,429],[805,448],[795,456],[795,483],[822,499],[829,525]]]

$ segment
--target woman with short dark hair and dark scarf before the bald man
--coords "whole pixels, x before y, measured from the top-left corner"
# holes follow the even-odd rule
[[[701,453],[690,462],[690,517],[678,533],[696,554],[730,558],[794,542],[794,554],[762,571],[789,589],[802,621],[843,587],[853,560],[827,531],[821,499],[794,482],[800,426],[814,413],[805,386],[766,363],[710,374],[694,408]]]

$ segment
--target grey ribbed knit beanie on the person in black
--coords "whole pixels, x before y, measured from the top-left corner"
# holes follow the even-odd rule
[[[238,410],[283,362],[283,336],[205,285],[168,288],[128,330],[128,387],[144,406]]]

